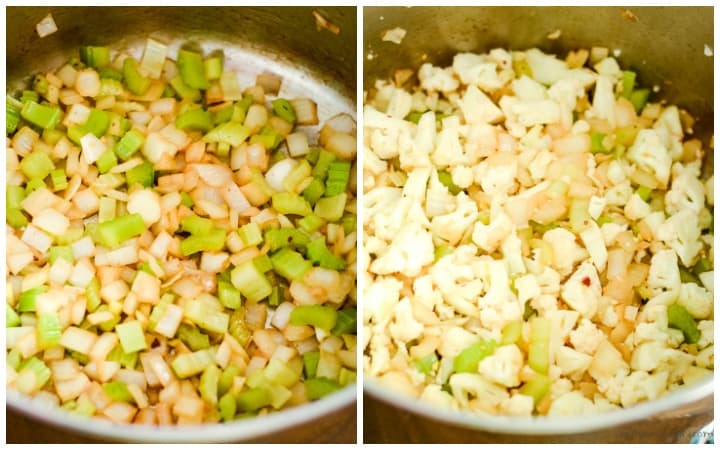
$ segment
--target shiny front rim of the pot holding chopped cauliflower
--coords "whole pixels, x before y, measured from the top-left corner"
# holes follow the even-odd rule
[[[364,392],[405,411],[472,430],[518,435],[563,435],[586,433],[617,425],[645,420],[652,416],[681,409],[713,395],[713,377],[663,396],[602,414],[584,416],[492,416],[470,411],[438,408],[419,399],[391,391],[370,377],[364,380]]]

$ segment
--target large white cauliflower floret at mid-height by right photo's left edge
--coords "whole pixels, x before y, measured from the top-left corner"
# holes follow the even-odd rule
[[[410,223],[400,230],[385,252],[370,264],[370,271],[379,275],[400,272],[414,277],[434,259],[432,234],[420,224]]]

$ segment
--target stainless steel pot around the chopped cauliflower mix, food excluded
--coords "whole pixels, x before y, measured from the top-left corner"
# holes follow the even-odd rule
[[[364,89],[397,69],[423,62],[449,65],[455,53],[495,47],[539,47],[564,54],[605,46],[621,51],[647,86],[697,119],[706,148],[713,128],[711,7],[366,7]],[[401,45],[382,41],[401,27]],[[546,36],[561,31],[557,40]],[[705,173],[712,173],[712,152]],[[689,442],[713,417],[713,380],[678,389],[632,408],[585,417],[492,417],[445,411],[365,381],[365,442]]]

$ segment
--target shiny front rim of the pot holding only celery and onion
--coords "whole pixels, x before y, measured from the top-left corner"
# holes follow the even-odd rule
[[[105,440],[155,443],[229,443],[257,439],[339,411],[356,400],[356,386],[352,384],[314,402],[274,412],[266,416],[206,425],[152,426],[116,424],[107,420],[74,415],[62,408],[48,407],[47,403],[24,396],[11,389],[7,390],[7,406],[40,422]]]

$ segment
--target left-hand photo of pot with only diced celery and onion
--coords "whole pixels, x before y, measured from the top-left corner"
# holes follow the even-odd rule
[[[356,442],[356,11],[5,9],[8,442]]]

